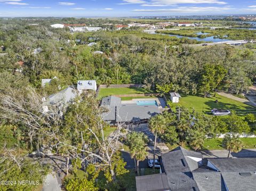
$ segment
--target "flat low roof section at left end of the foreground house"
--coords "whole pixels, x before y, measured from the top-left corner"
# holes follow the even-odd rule
[[[165,173],[136,177],[137,191],[169,190]]]

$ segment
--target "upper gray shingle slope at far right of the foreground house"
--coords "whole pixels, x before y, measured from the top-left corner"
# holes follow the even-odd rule
[[[209,159],[221,172],[256,171],[256,158]]]

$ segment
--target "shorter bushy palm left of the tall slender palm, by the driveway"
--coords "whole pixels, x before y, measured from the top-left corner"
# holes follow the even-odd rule
[[[136,171],[138,176],[140,175],[139,162],[146,159],[147,156],[147,147],[145,142],[139,140],[137,145],[131,150],[131,157],[137,161]]]

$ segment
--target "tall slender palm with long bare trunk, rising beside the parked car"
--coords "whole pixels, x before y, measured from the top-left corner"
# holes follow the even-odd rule
[[[155,171],[155,154],[156,154],[156,139],[157,134],[163,134],[165,130],[166,122],[163,115],[156,115],[151,118],[149,121],[150,130],[155,133],[155,143],[154,143],[154,163],[153,163],[153,172]]]

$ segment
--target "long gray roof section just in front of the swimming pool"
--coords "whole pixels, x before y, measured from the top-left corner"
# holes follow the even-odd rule
[[[117,121],[128,122],[150,119],[160,111],[156,105],[122,104],[117,107],[116,113]]]

